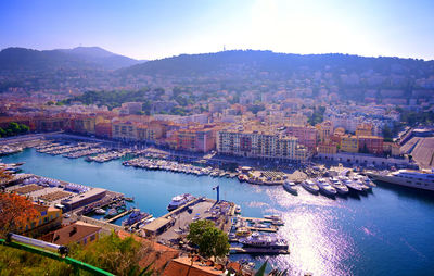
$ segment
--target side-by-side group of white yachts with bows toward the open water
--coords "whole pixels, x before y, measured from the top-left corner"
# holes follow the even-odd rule
[[[337,176],[337,177],[319,177],[315,179],[306,179],[302,181],[302,187],[311,193],[322,192],[326,196],[334,197],[336,195],[346,195],[350,190],[362,192],[375,187],[375,184],[367,176],[354,174],[353,176]],[[291,180],[285,180],[283,188],[297,195],[296,184]]]

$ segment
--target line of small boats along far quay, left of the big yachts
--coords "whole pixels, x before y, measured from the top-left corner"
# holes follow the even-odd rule
[[[237,174],[229,173],[222,170],[208,167],[200,167],[192,164],[178,163],[176,161],[167,160],[152,160],[144,158],[137,158],[123,162],[125,166],[141,167],[146,170],[161,170],[174,173],[193,174],[197,176],[209,175],[212,177],[237,177]]]

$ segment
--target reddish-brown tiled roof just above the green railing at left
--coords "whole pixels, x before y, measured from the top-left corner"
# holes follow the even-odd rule
[[[76,222],[53,231],[51,242],[55,244],[66,246],[72,242],[81,241],[85,237],[97,234],[102,228],[84,222]]]

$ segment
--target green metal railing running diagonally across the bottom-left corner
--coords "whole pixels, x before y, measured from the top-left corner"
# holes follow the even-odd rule
[[[23,237],[23,236],[18,236],[18,235],[14,235],[14,236]],[[27,240],[34,240],[34,239],[29,239],[27,237],[23,237],[23,238],[26,238]],[[44,242],[44,241],[39,241],[39,240],[35,240],[35,241],[37,243]],[[48,242],[46,242],[46,243],[54,246],[52,243],[48,243]],[[46,256],[46,258],[51,258],[51,259],[56,260],[59,262],[67,263],[67,264],[72,265],[74,267],[74,272],[75,272],[76,275],[79,275],[80,271],[86,271],[86,272],[89,272],[89,273],[91,273],[93,275],[113,276],[113,274],[111,274],[111,273],[108,273],[106,271],[103,271],[101,268],[94,267],[94,266],[92,266],[90,264],[77,261],[77,260],[75,260],[73,258],[65,256],[65,255],[62,255],[62,254],[56,253],[56,252],[51,252],[51,251],[48,251],[46,249],[41,249],[41,248],[38,248],[38,247],[35,247],[35,246],[25,244],[25,243],[13,241],[13,240],[9,240],[9,239],[8,240],[0,239],[0,244],[1,246],[5,246],[5,247],[20,249],[20,250],[24,250],[24,251],[27,251],[27,252],[30,252],[30,253],[39,254],[39,255],[42,255],[42,256]]]

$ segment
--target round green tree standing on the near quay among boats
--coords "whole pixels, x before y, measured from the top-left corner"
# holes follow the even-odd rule
[[[216,228],[210,221],[201,219],[190,224],[187,239],[199,248],[203,256],[224,256],[229,252],[228,235]]]

